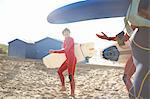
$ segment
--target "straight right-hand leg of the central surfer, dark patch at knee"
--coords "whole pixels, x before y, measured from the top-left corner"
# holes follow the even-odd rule
[[[71,87],[71,96],[74,96],[75,92],[75,80],[74,80],[74,73],[76,67],[77,60],[74,59],[73,63],[68,66],[68,73],[69,73],[69,80],[70,80],[70,87]]]

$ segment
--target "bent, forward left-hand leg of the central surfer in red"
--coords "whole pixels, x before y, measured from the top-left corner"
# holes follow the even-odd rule
[[[61,65],[61,67],[58,69],[57,73],[60,77],[60,81],[61,81],[61,85],[62,85],[62,88],[61,88],[61,91],[65,91],[66,88],[65,88],[65,78],[64,78],[64,75],[63,75],[63,72],[67,69],[67,64],[66,64],[66,61]]]

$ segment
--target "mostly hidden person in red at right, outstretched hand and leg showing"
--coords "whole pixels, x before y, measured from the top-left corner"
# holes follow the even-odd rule
[[[135,27],[133,27],[133,29],[135,29]],[[104,34],[103,32],[102,32],[102,35],[96,34],[96,36],[98,36],[101,39],[106,39],[106,40],[109,40],[109,41],[117,41],[117,36],[116,37],[107,37],[107,35]],[[125,38],[125,41],[128,41],[130,36],[126,33],[124,35],[124,38]],[[136,70],[136,67],[133,63],[132,56],[130,56],[130,58],[128,59],[126,65],[125,65],[124,76],[123,76],[123,81],[126,85],[126,88],[127,88],[128,92],[130,91],[130,89],[133,86],[133,84],[131,82],[131,77],[135,73],[135,70]]]

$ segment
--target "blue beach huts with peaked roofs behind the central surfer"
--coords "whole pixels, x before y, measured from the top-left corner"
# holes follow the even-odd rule
[[[8,55],[17,58],[42,59],[50,49],[61,49],[61,45],[61,41],[49,37],[35,43],[15,39],[9,42]]]

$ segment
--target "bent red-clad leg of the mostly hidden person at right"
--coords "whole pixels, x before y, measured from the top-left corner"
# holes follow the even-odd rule
[[[136,68],[135,68],[135,65],[133,63],[133,59],[131,56],[126,63],[124,76],[123,76],[123,81],[124,81],[128,91],[132,87],[131,77],[134,74],[135,70],[136,70]]]

